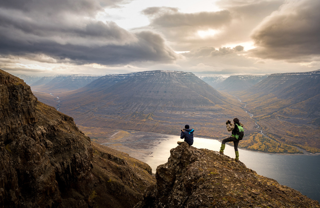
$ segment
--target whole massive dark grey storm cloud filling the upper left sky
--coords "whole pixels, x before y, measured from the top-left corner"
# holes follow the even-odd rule
[[[44,54],[57,62],[103,65],[175,60],[177,55],[158,34],[132,33],[114,22],[90,18],[102,6],[121,2],[5,1],[0,4],[0,55]]]

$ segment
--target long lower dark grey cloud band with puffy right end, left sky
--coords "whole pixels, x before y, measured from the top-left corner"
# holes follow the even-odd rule
[[[105,65],[128,64],[135,61],[166,61],[176,59],[176,54],[168,48],[158,34],[144,31],[135,34],[138,41],[131,44],[108,44],[87,47],[75,44],[57,44],[53,41],[23,44],[0,42],[0,53],[29,57],[28,53],[54,57],[57,62],[76,64],[99,63]]]

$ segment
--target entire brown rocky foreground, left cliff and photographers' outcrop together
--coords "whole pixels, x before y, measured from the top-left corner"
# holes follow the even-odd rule
[[[73,118],[2,70],[0,98],[0,207],[319,207],[241,162],[186,142],[158,166],[155,185],[147,164],[92,142]]]

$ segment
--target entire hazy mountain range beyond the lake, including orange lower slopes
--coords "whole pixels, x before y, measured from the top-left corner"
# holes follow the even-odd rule
[[[301,152],[289,146],[294,145],[319,152],[318,74],[319,70],[268,77],[214,75],[216,84],[220,84],[219,92],[194,74],[178,71],[106,75],[74,91],[69,91],[72,81],[66,82],[72,77],[59,84],[45,77],[37,82],[41,92],[33,93],[84,127],[179,134],[189,124],[196,129],[196,136],[222,139],[228,135],[225,120],[238,117],[245,124],[246,137],[241,142],[244,148]],[[44,80],[47,84],[41,85]],[[74,81],[82,82],[79,77]],[[233,95],[246,103],[244,109],[244,103]],[[269,138],[258,134],[260,130],[244,110],[253,114]],[[287,129],[292,126],[299,133]]]

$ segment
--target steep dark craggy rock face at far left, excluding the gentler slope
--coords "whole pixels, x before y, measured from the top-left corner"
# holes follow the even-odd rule
[[[89,174],[90,139],[2,70],[0,98],[0,207],[57,206],[60,189]]]

